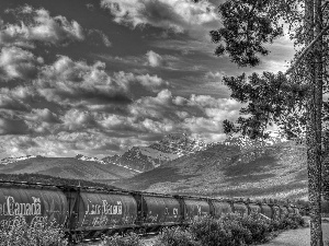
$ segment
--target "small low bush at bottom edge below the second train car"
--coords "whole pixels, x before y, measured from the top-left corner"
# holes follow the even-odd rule
[[[140,237],[136,233],[131,233],[126,236],[105,236],[101,243],[102,246],[143,246]]]

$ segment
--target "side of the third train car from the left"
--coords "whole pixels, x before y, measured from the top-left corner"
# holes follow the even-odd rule
[[[146,224],[170,225],[178,224],[181,220],[179,200],[171,197],[144,195]]]

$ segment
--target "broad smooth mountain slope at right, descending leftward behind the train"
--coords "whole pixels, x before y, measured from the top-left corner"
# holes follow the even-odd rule
[[[220,197],[307,195],[306,151],[294,142],[212,144],[133,178],[122,188]]]

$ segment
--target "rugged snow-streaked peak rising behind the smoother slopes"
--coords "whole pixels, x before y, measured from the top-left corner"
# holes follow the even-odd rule
[[[186,134],[169,134],[149,147],[133,147],[123,155],[106,156],[102,161],[145,172],[168,161],[202,151],[206,147],[203,141]]]

